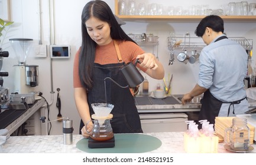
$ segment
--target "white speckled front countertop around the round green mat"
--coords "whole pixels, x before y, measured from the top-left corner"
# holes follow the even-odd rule
[[[148,153],[185,153],[183,149],[183,132],[144,133],[161,140],[158,149]],[[2,153],[84,153],[77,149],[76,143],[83,137],[73,135],[73,144],[64,145],[63,135],[56,136],[11,136],[2,144]],[[252,144],[256,153],[256,144]],[[232,153],[224,148],[224,143],[219,143],[218,153]]]

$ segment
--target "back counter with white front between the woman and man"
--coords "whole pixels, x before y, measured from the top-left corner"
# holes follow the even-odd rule
[[[144,133],[186,131],[187,120],[197,120],[200,103],[182,105],[183,95],[170,95],[166,98],[150,96],[135,97],[135,105],[141,118]],[[193,117],[195,116],[196,117]]]

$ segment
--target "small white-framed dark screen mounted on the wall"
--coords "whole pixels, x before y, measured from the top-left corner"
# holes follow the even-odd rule
[[[70,45],[50,45],[51,58],[70,58]]]

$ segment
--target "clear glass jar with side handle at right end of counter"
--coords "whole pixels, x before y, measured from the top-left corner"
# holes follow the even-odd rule
[[[235,151],[249,150],[249,127],[246,118],[232,119],[232,126],[225,129],[225,143]]]

